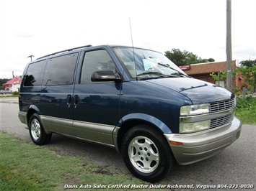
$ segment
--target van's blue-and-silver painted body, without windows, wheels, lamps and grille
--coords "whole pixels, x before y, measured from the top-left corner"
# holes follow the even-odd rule
[[[92,50],[107,50],[118,68],[119,82],[79,84],[84,52]],[[180,123],[218,118],[234,112],[232,108],[219,113],[180,117],[181,106],[233,99],[234,94],[224,88],[193,78],[134,80],[111,46],[86,47],[73,52],[79,55],[71,85],[43,85],[42,81],[39,86],[21,86],[19,119],[22,123],[27,124],[32,113],[37,113],[48,133],[115,146],[118,151],[129,128],[149,124],[164,134],[179,164],[211,157],[238,139],[241,122],[237,118],[215,129],[179,134]],[[63,54],[66,53],[40,60],[47,64],[51,58]]]

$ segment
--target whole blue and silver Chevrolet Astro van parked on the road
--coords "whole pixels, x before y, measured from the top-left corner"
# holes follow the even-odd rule
[[[115,147],[136,177],[157,182],[173,165],[213,156],[239,138],[233,93],[187,76],[159,52],[102,45],[27,64],[19,120],[32,141],[53,133]]]

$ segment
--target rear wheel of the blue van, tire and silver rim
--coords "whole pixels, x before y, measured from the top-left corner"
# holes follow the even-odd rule
[[[32,141],[37,145],[48,144],[50,142],[52,134],[46,134],[43,129],[43,124],[37,113],[33,113],[29,122],[30,137]]]

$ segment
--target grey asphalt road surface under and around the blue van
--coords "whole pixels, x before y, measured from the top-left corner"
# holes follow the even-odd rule
[[[17,98],[0,98],[0,131],[20,139],[30,140],[29,131],[25,129],[26,125],[22,124],[17,117],[18,110]],[[234,144],[202,162],[186,166],[177,165],[164,180],[155,185],[193,185],[193,189],[173,187],[172,190],[242,190],[244,185],[253,185],[251,190],[256,190],[255,138],[256,126],[243,124],[241,136]],[[83,157],[84,161],[113,166],[125,173],[130,173],[120,154],[113,148],[56,134],[53,134],[47,146],[57,152]],[[218,186],[222,189],[211,189]]]

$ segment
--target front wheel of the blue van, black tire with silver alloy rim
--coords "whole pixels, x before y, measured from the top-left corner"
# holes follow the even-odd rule
[[[124,136],[122,155],[130,172],[147,182],[157,182],[175,164],[167,139],[151,126],[134,126]]]

